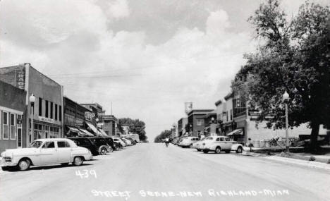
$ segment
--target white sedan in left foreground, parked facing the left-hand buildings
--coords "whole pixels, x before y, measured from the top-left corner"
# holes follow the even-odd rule
[[[39,139],[29,148],[11,149],[1,153],[1,169],[25,171],[30,166],[48,164],[80,166],[83,161],[92,159],[90,150],[78,147],[75,142],[65,138]]]

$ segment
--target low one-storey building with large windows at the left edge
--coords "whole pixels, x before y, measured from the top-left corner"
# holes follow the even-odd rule
[[[0,81],[0,153],[23,147],[26,92]]]

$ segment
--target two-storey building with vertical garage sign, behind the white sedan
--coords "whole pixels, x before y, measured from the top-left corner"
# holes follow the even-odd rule
[[[25,122],[23,147],[28,147],[35,139],[63,137],[63,86],[37,71],[30,63],[0,68],[0,80],[26,91],[25,105],[29,118]],[[35,96],[33,106],[29,99],[32,94]]]

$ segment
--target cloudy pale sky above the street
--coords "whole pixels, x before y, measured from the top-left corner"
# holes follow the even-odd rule
[[[149,141],[193,109],[215,109],[262,0],[2,0],[0,67],[31,63],[78,103],[146,123]],[[281,1],[294,16],[304,1]],[[314,1],[313,1],[314,2]],[[326,0],[317,0],[329,4]]]

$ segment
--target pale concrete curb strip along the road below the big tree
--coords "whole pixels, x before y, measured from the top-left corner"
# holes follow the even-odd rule
[[[327,171],[330,171],[330,164],[324,164],[321,162],[309,162],[309,161],[304,161],[300,159],[290,159],[286,157],[276,157],[276,156],[271,156],[271,157],[264,157],[264,159],[271,160],[271,161],[277,161],[277,162],[284,162],[286,164],[295,164],[299,166],[306,166],[309,168],[313,169],[324,169]]]

